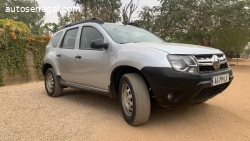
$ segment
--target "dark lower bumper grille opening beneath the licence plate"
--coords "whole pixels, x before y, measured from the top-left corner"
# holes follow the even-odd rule
[[[194,100],[201,100],[215,96],[222,91],[224,91],[230,83],[221,84],[218,86],[213,86],[209,88],[202,89],[199,94],[194,98]]]

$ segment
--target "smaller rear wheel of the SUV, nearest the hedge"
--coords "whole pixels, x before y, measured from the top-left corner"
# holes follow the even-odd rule
[[[62,95],[63,88],[59,84],[59,80],[52,68],[47,69],[44,84],[46,92],[50,97],[58,97]]]

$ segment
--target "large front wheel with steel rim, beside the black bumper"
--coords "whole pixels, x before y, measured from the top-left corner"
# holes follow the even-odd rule
[[[125,74],[119,84],[119,101],[125,121],[133,126],[146,123],[151,103],[147,85],[136,73]]]

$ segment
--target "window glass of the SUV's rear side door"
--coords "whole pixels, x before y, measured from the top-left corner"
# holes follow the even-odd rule
[[[75,47],[78,29],[79,28],[70,29],[65,33],[61,48],[73,49]]]

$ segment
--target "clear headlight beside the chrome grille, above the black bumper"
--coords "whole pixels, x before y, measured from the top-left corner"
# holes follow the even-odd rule
[[[197,63],[192,56],[168,55],[167,58],[177,71],[198,73]]]

